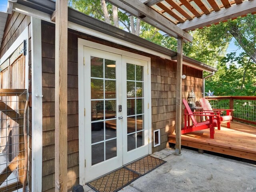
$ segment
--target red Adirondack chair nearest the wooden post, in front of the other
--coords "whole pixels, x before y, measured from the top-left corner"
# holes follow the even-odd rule
[[[203,112],[192,112],[190,107],[188,106],[188,102],[185,99],[183,99],[182,101],[185,106],[185,109],[184,109],[185,126],[181,130],[181,134],[209,128],[210,129],[210,138],[214,139],[214,127],[217,126],[217,120],[214,119],[214,117],[216,115],[214,115],[214,113],[212,112],[212,114],[209,114],[209,120],[198,123],[196,121],[195,116],[205,116],[205,114],[203,114]],[[192,120],[192,125],[190,125],[190,118]]]

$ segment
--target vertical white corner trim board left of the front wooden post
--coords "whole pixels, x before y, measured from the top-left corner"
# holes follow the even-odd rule
[[[32,191],[42,191],[42,45],[41,20],[31,17]]]

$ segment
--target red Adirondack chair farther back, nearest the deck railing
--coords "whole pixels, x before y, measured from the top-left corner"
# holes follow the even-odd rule
[[[220,116],[217,119],[217,125],[218,125],[218,130],[220,130],[220,123],[227,123],[227,127],[230,128],[230,122],[232,120],[232,116],[231,111],[233,111],[233,109],[212,109],[212,106],[210,105],[210,103],[208,102],[208,100],[206,98],[201,98],[199,100],[201,106],[204,108],[205,112],[219,112],[221,113],[222,111],[226,111],[226,115],[225,116]],[[209,113],[205,113],[207,114],[207,118],[208,118],[208,114]]]

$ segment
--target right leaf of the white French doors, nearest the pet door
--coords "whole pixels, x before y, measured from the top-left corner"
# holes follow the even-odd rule
[[[123,164],[148,154],[147,62],[122,56]]]

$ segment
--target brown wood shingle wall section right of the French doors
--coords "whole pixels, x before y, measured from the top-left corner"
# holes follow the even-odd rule
[[[196,100],[199,100],[202,97],[202,71],[188,66],[183,66],[182,70],[186,75],[182,80],[182,98],[187,98],[188,91],[194,89]],[[160,146],[152,147],[152,152],[156,152],[169,146],[168,134],[175,130],[176,62],[151,57],[151,97],[152,141],[154,130],[160,129],[161,137]]]

